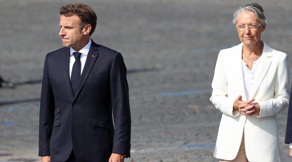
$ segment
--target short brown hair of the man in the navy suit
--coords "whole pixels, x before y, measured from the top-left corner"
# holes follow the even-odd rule
[[[80,32],[87,24],[91,25],[89,36],[94,32],[96,27],[97,16],[95,12],[86,4],[74,3],[60,8],[60,14],[66,17],[77,15],[81,19]]]

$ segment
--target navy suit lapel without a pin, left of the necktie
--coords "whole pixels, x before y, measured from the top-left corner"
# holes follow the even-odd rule
[[[74,96],[71,82],[70,82],[70,76],[69,76],[69,59],[70,59],[70,48],[67,48],[67,50],[62,52],[62,67],[63,67],[65,82],[72,96]]]

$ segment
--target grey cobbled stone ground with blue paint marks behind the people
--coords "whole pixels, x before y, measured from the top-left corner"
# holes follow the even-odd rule
[[[1,0],[0,162],[40,161],[38,116],[45,55],[62,47],[59,8],[77,1]],[[213,162],[221,113],[209,101],[220,49],[239,44],[232,24],[240,0],[87,0],[98,15],[93,40],[120,51],[128,68],[132,114],[129,161]],[[262,34],[291,57],[290,0],[259,0]],[[292,75],[291,75],[292,76]],[[190,91],[190,94],[187,92]],[[163,94],[168,92],[183,92]],[[173,95],[173,96],[171,96]],[[278,115],[281,159],[287,110]]]

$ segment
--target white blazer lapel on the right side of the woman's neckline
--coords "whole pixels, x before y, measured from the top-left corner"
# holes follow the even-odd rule
[[[263,54],[261,56],[262,58],[260,60],[260,65],[258,65],[258,67],[256,69],[257,75],[254,77],[254,78],[256,78],[256,81],[252,87],[251,95],[249,96],[250,99],[255,97],[255,94],[256,94],[260,84],[262,83],[265,75],[267,74],[267,71],[268,71],[270,64],[271,64],[271,61],[269,60],[268,57],[271,57],[271,56],[272,56],[271,48],[264,42]]]

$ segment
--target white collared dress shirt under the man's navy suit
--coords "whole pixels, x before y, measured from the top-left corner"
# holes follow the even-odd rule
[[[86,62],[86,58],[87,58],[87,54],[88,54],[90,46],[91,46],[91,39],[89,40],[88,44],[86,44],[85,47],[83,47],[80,51],[78,51],[78,52],[81,53],[81,56],[80,56],[81,74],[82,74],[82,70],[83,70],[85,62]],[[75,51],[73,48],[70,48],[70,54],[71,54],[71,57],[70,57],[70,60],[69,60],[69,76],[70,76],[70,80],[71,80],[72,67],[73,67],[73,64],[75,62],[75,57],[73,55],[74,52],[77,52],[77,51]]]

